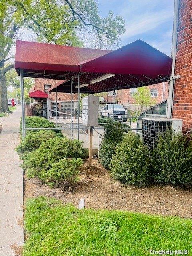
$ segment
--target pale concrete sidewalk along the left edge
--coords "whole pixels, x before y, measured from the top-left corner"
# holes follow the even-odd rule
[[[23,170],[14,148],[19,144],[21,107],[0,118],[0,256],[19,255],[23,234]]]

